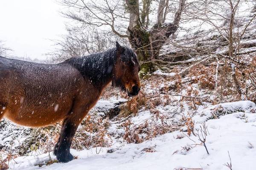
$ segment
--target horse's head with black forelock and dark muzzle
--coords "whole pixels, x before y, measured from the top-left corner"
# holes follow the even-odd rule
[[[116,63],[113,68],[112,86],[121,87],[128,96],[136,96],[140,91],[138,72],[140,64],[134,50],[122,47],[116,42]]]

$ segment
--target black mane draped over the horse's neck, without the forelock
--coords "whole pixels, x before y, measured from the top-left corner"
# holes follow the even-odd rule
[[[115,57],[116,52],[111,49],[90,56],[72,58],[71,62],[84,78],[89,78],[101,90],[112,80]]]

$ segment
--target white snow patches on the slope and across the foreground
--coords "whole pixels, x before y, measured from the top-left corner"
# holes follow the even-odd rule
[[[244,13],[245,15],[246,13]],[[248,19],[245,19],[248,22]],[[245,22],[244,21],[244,22]],[[195,43],[190,41],[183,41],[185,39],[194,40],[197,34],[188,35],[186,32],[187,27],[198,26],[198,21],[193,21],[191,23],[181,24],[180,26],[185,29],[180,30],[177,35],[177,41],[181,41],[183,46],[195,46]],[[221,23],[220,23],[221,24]],[[256,32],[253,23],[248,27],[250,32],[245,32],[243,37],[249,37],[252,40],[241,40],[241,44],[253,44],[256,43],[255,36],[253,33]],[[202,25],[201,28],[207,31],[207,29],[212,29],[212,27],[206,27],[206,24]],[[190,30],[194,33],[198,28],[193,27]],[[202,33],[204,34],[204,33]],[[202,42],[205,44],[214,44],[218,42],[215,40],[214,36],[219,35],[217,32],[211,32],[202,38]],[[242,37],[242,38],[243,38]],[[209,40],[208,40],[209,39]],[[175,41],[175,40],[174,40]],[[200,42],[201,42],[200,41]],[[184,43],[184,44],[183,44]],[[242,48],[241,51],[255,51],[256,47]],[[161,54],[168,52],[178,52],[180,49],[172,48],[170,45],[165,45],[161,50]],[[215,53],[224,54],[227,51],[226,47],[218,47]],[[192,57],[186,60],[187,62],[196,62],[199,60],[207,60],[208,56]],[[218,62],[219,63],[219,62]],[[188,68],[191,68],[191,65]],[[232,65],[233,70],[235,65]],[[187,70],[187,69],[186,69]],[[186,71],[183,70],[183,71]],[[106,71],[106,70],[104,70]],[[216,74],[218,74],[218,67],[216,68]],[[180,72],[182,73],[182,71]],[[168,77],[175,76],[176,73],[163,73],[161,70],[154,72],[156,75],[164,75]],[[215,79],[218,77],[215,74]],[[192,79],[193,77],[191,77]],[[183,79],[183,83],[187,85]],[[151,87],[146,84],[146,92],[154,92],[154,89],[160,90],[166,86],[172,85],[174,81],[167,82],[167,84],[160,84],[159,86]],[[217,86],[217,84],[216,84]],[[187,90],[190,88],[198,91],[197,95],[191,94],[191,97],[204,98],[204,96],[209,96],[213,94],[213,91],[208,92],[200,90],[198,84],[192,84],[186,89],[183,89],[180,94],[169,91],[170,94],[174,94],[170,97],[172,105],[160,105],[155,109],[160,111],[163,116],[169,118],[167,119],[169,124],[174,122],[180,122],[181,115],[186,115],[193,112],[192,120],[195,123],[194,133],[199,130],[199,135],[201,139],[204,137],[200,133],[201,127],[206,125],[206,140],[205,144],[209,155],[205,147],[199,141],[198,136],[191,134],[188,136],[186,126],[181,127],[179,131],[174,131],[172,133],[166,133],[164,135],[159,135],[156,138],[147,140],[140,144],[128,144],[123,140],[123,133],[125,133],[124,128],[120,127],[122,122],[130,119],[134,125],[143,125],[145,121],[152,121],[154,115],[149,110],[141,109],[136,116],[129,116],[122,120],[111,120],[111,126],[108,128],[108,134],[114,133],[113,145],[111,147],[97,147],[90,148],[89,150],[77,151],[71,149],[70,152],[73,156],[77,156],[77,159],[70,161],[68,163],[53,163],[51,165],[46,165],[49,161],[49,157],[52,160],[56,160],[56,157],[51,153],[42,153],[40,151],[29,153],[29,156],[20,156],[9,162],[10,169],[15,170],[189,170],[189,169],[203,169],[203,170],[228,170],[229,168],[225,164],[230,164],[230,158],[232,161],[233,170],[254,170],[255,169],[255,158],[256,158],[256,105],[251,101],[239,101],[239,102],[228,102],[220,103],[218,105],[212,105],[208,102],[202,102],[198,105],[197,110],[192,110],[189,104],[185,104],[184,99],[180,95],[187,95]],[[175,96],[177,94],[177,96]],[[119,97],[118,97],[119,98]],[[161,96],[160,96],[161,98]],[[225,100],[228,101],[229,99]],[[231,100],[231,99],[230,99]],[[101,99],[97,102],[96,106],[91,110],[96,112],[98,115],[105,116],[105,111],[109,109],[116,108],[120,103],[127,101],[127,99],[116,99],[116,97],[111,97],[110,99]],[[183,106],[176,105],[180,102]],[[176,104],[175,104],[176,103]],[[58,109],[58,107],[56,108]],[[152,118],[153,117],[153,118]],[[156,121],[156,120],[154,120]],[[160,121],[160,120],[159,120]],[[6,122],[6,120],[4,120]],[[157,121],[156,121],[157,122]],[[7,122],[8,123],[8,122]],[[175,125],[175,124],[174,124]],[[7,127],[7,126],[6,126]],[[154,127],[153,127],[154,128]],[[18,129],[22,129],[21,131]],[[0,132],[0,144],[5,144],[11,147],[11,141],[14,142],[13,147],[18,147],[20,143],[25,141],[26,136],[24,133],[29,131],[29,128],[17,127],[16,125],[10,125]],[[143,134],[140,134],[143,135]],[[11,137],[12,136],[12,137]],[[15,138],[15,139],[14,139]],[[181,138],[181,139],[180,139]],[[152,152],[146,152],[149,150]],[[228,153],[229,152],[229,153]],[[229,158],[230,154],[230,158]],[[0,155],[1,156],[1,155]],[[39,164],[42,167],[39,167]]]

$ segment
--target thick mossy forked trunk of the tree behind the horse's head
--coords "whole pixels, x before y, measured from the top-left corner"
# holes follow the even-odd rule
[[[139,0],[125,0],[128,10],[130,11],[130,23],[127,29],[129,42],[133,48],[136,48],[136,54],[141,62],[143,73],[154,71],[154,59],[158,59],[159,51],[171,34],[177,31],[177,26],[173,23],[163,23],[163,11],[166,4],[165,0],[160,0],[160,11],[158,12],[158,22],[150,31],[143,26],[140,20]],[[148,2],[148,0],[146,0]],[[185,0],[181,0],[184,1]],[[184,3],[183,3],[184,5]],[[183,10],[184,7],[179,8]],[[149,11],[149,10],[148,10]],[[181,13],[181,11],[180,11]],[[180,15],[179,15],[180,17]],[[178,19],[178,21],[180,18]]]

